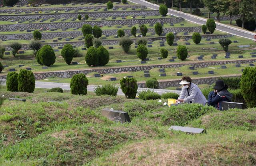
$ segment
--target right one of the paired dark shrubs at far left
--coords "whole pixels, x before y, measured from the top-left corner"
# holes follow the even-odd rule
[[[18,91],[33,93],[36,86],[36,79],[32,71],[21,69],[18,74]]]

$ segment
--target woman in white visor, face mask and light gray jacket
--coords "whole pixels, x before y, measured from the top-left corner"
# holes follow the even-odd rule
[[[177,103],[185,102],[185,103],[200,103],[205,105],[207,102],[201,90],[194,83],[191,83],[192,79],[190,77],[182,77],[182,81],[180,85],[183,85],[180,93],[180,97],[178,97]]]

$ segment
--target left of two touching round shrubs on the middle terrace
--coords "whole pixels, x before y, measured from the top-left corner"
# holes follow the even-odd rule
[[[90,47],[85,55],[85,61],[88,66],[97,66],[99,64],[98,51],[94,47]]]

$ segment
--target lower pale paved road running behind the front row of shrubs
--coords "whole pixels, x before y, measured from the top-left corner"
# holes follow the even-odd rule
[[[2,85],[5,85],[5,79],[0,79],[2,80]],[[42,81],[36,81],[36,88],[44,88],[44,89],[51,89],[55,87],[60,87],[64,90],[70,90],[70,84],[69,83],[53,83],[53,82],[42,82]],[[94,91],[95,85],[88,85],[87,86],[87,91]],[[138,92],[146,90],[147,88],[138,88]],[[151,89],[152,91],[162,95],[163,93],[166,92],[174,92],[174,93],[180,93],[180,91],[175,91],[175,90],[166,90],[166,89]],[[122,90],[119,88],[118,89],[118,95],[124,95]]]

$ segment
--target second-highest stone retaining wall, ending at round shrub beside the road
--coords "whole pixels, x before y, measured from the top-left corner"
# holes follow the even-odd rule
[[[88,14],[90,18],[108,18],[108,17],[125,17],[125,16],[158,16],[159,12],[156,10],[130,10],[130,11],[111,11],[111,12],[73,12],[73,13],[51,13],[51,14],[22,14],[22,15],[0,15],[0,21],[19,21],[22,20],[40,20],[40,19],[70,19],[77,18],[78,14],[84,17],[85,14]]]

